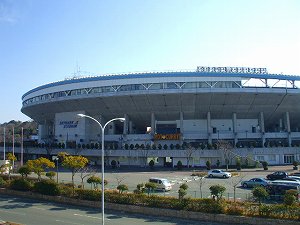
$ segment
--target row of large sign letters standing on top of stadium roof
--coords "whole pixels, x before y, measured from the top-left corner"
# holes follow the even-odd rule
[[[250,73],[250,74],[267,74],[267,68],[250,68],[250,67],[207,67],[197,66],[198,73]]]

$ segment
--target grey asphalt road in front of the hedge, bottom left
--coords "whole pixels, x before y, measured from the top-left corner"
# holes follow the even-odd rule
[[[31,199],[0,196],[0,220],[24,225],[95,225],[101,224],[99,209],[74,207]],[[108,211],[107,225],[229,225],[180,220]]]

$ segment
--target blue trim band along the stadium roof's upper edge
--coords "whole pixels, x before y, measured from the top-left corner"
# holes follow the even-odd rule
[[[27,95],[45,89],[49,87],[55,87],[65,84],[74,84],[90,81],[99,80],[115,80],[115,79],[135,79],[135,78],[158,78],[158,77],[241,77],[241,78],[256,78],[256,79],[278,79],[278,80],[291,80],[300,81],[300,76],[293,75],[282,75],[282,74],[249,74],[249,73],[213,73],[213,72],[157,72],[157,73],[137,73],[137,74],[120,74],[120,75],[107,75],[107,76],[97,76],[97,77],[86,77],[78,79],[70,79],[64,81],[58,81],[50,84],[45,84],[34,88],[26,92],[22,99]]]

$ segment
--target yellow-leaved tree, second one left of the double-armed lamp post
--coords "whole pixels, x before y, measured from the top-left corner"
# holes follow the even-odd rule
[[[38,180],[41,180],[42,174],[47,168],[54,168],[54,162],[51,162],[49,159],[40,157],[38,159],[28,160],[26,165],[28,168],[38,176]]]

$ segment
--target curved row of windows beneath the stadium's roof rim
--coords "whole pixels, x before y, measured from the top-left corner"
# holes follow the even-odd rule
[[[23,102],[24,105],[55,99],[66,96],[88,95],[108,92],[139,91],[139,90],[159,90],[159,89],[193,89],[193,88],[240,88],[240,82],[233,81],[210,81],[210,82],[167,82],[150,84],[128,84],[113,85],[104,87],[82,88],[75,90],[60,91],[30,98]]]

